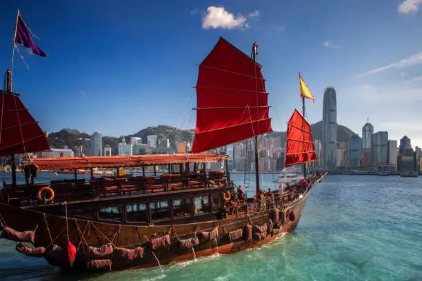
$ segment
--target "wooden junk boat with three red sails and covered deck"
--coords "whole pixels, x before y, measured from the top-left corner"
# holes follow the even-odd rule
[[[234,253],[294,231],[310,191],[325,173],[307,175],[306,163],[316,157],[303,96],[303,113],[294,110],[288,122],[285,165],[303,164],[305,180],[283,191],[260,186],[258,136],[272,129],[257,54],[257,43],[250,57],[220,38],[199,65],[193,153],[32,158],[24,167],[23,185],[17,184],[14,154],[50,147],[12,92],[7,71],[0,93],[0,156],[11,157],[12,183],[0,190],[1,238],[16,241],[23,255],[54,266],[112,271]],[[257,195],[252,198],[230,179],[228,156],[206,153],[247,138],[255,141]],[[210,171],[208,163],[225,163],[226,170]],[[168,174],[145,174],[146,167],[157,165],[167,165]],[[138,167],[143,174],[121,176],[124,167]],[[95,177],[94,168],[115,168],[117,174]],[[72,169],[74,179],[36,183],[37,171],[46,169]],[[78,169],[90,170],[90,179],[77,178]]]

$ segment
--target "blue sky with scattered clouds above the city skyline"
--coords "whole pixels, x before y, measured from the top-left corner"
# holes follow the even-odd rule
[[[197,65],[221,36],[246,54],[258,42],[274,130],[301,108],[301,72],[310,123],[332,86],[337,123],[422,146],[422,0],[0,1],[3,70],[18,8],[48,57],[19,46],[13,90],[44,130],[194,128]]]

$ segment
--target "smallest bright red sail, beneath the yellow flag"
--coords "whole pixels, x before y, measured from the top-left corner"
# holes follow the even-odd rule
[[[286,139],[285,167],[316,160],[310,124],[297,110],[288,122]]]

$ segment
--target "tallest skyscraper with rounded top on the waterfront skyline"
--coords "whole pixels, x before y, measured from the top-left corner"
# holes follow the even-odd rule
[[[336,91],[328,87],[324,92],[322,123],[322,165],[327,169],[336,168],[337,149],[337,101]]]

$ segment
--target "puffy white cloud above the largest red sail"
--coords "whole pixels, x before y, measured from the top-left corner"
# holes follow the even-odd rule
[[[234,14],[225,10],[224,7],[210,6],[205,12],[205,16],[202,21],[202,28],[248,28],[249,25],[246,20],[250,17],[259,17],[259,10],[251,12],[248,16],[239,14],[237,17]]]

